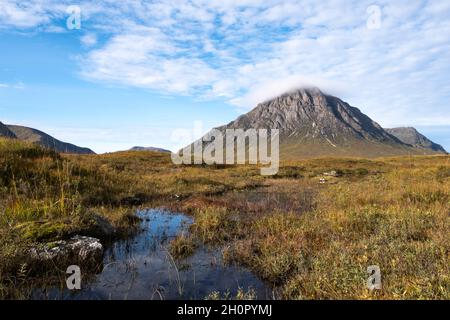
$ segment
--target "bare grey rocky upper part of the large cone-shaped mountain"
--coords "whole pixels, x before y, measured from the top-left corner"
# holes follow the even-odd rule
[[[318,88],[302,88],[260,103],[230,128],[273,128],[283,137],[344,138],[398,142],[359,109]]]

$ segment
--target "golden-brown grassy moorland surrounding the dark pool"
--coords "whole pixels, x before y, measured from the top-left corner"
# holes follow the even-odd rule
[[[334,170],[338,177],[323,176]],[[320,178],[325,183],[319,183]],[[73,234],[129,234],[135,206],[194,217],[170,251],[221,248],[286,299],[450,299],[450,157],[175,166],[155,152],[59,155],[0,140],[0,297],[39,276],[27,248]],[[383,289],[365,285],[378,265]]]

